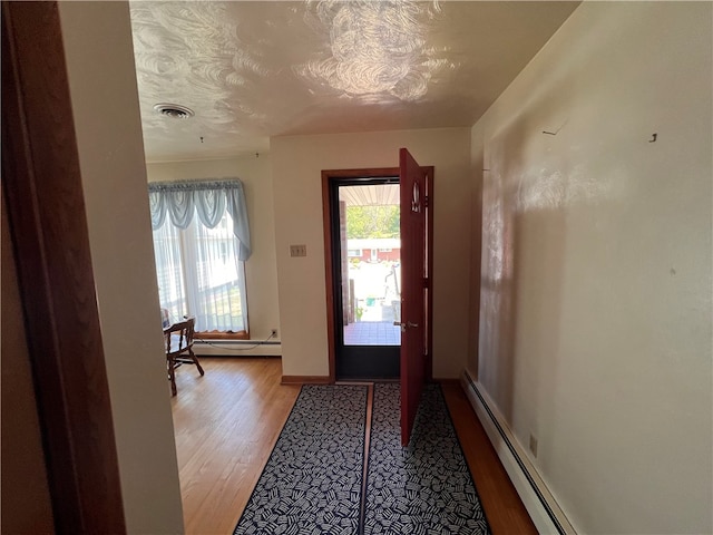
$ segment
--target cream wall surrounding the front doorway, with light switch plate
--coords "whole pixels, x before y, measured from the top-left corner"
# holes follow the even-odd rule
[[[322,169],[398,167],[407,147],[434,171],[433,374],[466,366],[470,255],[469,128],[271,139],[283,373],[326,376]],[[306,244],[306,257],[290,257]]]

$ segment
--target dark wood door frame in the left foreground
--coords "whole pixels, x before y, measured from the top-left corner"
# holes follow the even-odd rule
[[[55,527],[126,533],[56,2],[2,2],[2,187]]]

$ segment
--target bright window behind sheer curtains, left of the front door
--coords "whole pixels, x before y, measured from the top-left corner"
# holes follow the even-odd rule
[[[201,184],[201,183],[198,183]],[[245,300],[245,268],[241,254],[250,254],[250,246],[236,236],[235,220],[232,215],[234,206],[225,210],[226,203],[215,202],[209,214],[211,227],[201,215],[205,206],[192,208],[184,206],[184,212],[195,211],[198,217],[184,215],[174,224],[174,211],[170,202],[175,198],[159,201],[152,192],[152,222],[154,227],[154,251],[156,275],[160,305],[168,310],[172,322],[185,314],[195,315],[196,330],[204,333],[236,333],[247,338],[247,307]],[[242,189],[241,189],[242,193]],[[182,203],[186,203],[186,192],[182,192]],[[196,193],[196,196],[201,193]],[[215,196],[215,192],[211,195]],[[159,226],[160,214],[155,205],[165,202],[164,222]],[[199,204],[197,202],[196,204]],[[188,204],[191,204],[188,202]],[[229,203],[228,203],[229,204]],[[221,207],[223,210],[221,210]],[[170,217],[166,217],[166,213]],[[179,217],[176,217],[179,220]],[[244,217],[246,222],[246,217]],[[247,234],[248,236],[250,234]],[[243,240],[245,240],[243,233]],[[224,334],[222,334],[224,335]]]

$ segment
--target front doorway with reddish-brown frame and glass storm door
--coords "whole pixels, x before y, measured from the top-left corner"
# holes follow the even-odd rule
[[[426,321],[423,321],[424,377],[430,378],[432,366],[430,276],[432,256],[430,252],[433,250],[433,212],[428,201],[432,198],[433,167],[427,166],[421,169],[424,175],[422,204],[427,214],[427,236],[423,243],[427,268],[422,281],[428,295],[424,303]],[[406,203],[400,183],[400,167],[322,172],[329,378],[332,382],[398,380],[403,371],[401,363],[403,356],[399,354],[403,350],[401,337],[404,329],[401,318],[403,307],[401,292],[407,281],[401,280],[404,266],[400,256],[400,239],[404,222],[400,220],[401,214],[404,213],[404,206],[408,211],[412,203],[410,194],[409,202]],[[341,208],[340,203],[342,203]],[[356,228],[352,228],[351,236],[349,235],[348,205],[354,206],[351,212],[355,212],[362,220],[371,221],[372,226],[368,231],[364,231],[362,222],[355,225]],[[375,208],[364,210],[356,206]],[[393,206],[399,206],[398,218],[393,217]],[[365,217],[365,213],[370,211],[372,212],[369,214],[370,217]],[[373,220],[379,220],[381,223],[374,226]],[[399,221],[401,225],[398,224]],[[394,233],[394,226],[398,228],[397,233]],[[372,239],[375,234],[375,239],[381,241],[370,242],[368,237],[356,237],[370,236],[370,234]],[[399,237],[395,237],[397,235]],[[364,285],[361,284],[361,278],[365,279],[367,272],[375,272],[377,278],[365,282]],[[350,288],[350,278],[353,279],[353,290]],[[398,324],[394,325],[394,322]],[[410,335],[412,337],[412,333]],[[362,343],[354,343],[360,339]]]

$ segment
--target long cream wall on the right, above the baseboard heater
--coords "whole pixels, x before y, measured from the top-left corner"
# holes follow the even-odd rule
[[[713,531],[711,23],[585,2],[472,128],[469,369],[579,533]]]

